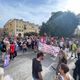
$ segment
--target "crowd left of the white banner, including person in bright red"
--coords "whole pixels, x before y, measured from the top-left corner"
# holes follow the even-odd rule
[[[9,61],[14,60],[17,56],[17,51],[22,51],[22,53],[25,53],[29,49],[37,51],[38,38],[31,36],[20,40],[10,40],[5,38],[0,42],[0,52],[3,62],[6,57],[9,57]]]

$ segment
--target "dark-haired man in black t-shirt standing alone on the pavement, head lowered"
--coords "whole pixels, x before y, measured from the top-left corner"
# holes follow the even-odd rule
[[[43,60],[43,53],[40,52],[37,54],[37,58],[34,58],[32,60],[32,76],[33,80],[43,80],[42,78],[42,65],[41,65],[41,60]]]

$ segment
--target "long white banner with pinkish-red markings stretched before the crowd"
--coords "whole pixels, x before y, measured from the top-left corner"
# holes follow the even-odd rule
[[[39,51],[42,51],[42,52],[45,52],[47,54],[51,54],[54,56],[57,56],[60,51],[59,47],[47,45],[47,44],[41,43],[41,42],[39,42],[38,49],[39,49]]]

